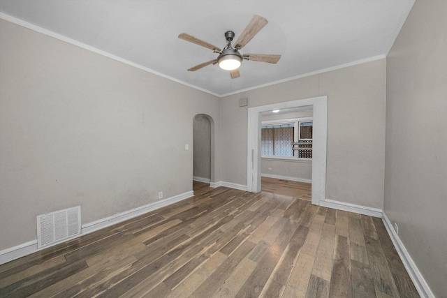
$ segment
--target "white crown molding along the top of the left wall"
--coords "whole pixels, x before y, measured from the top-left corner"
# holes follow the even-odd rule
[[[56,39],[62,40],[64,42],[66,42],[66,43],[71,43],[72,45],[76,45],[78,47],[82,47],[85,50],[89,50],[89,51],[94,52],[96,54],[100,54],[102,56],[105,56],[105,57],[108,57],[110,59],[122,62],[124,64],[133,66],[135,68],[138,68],[138,69],[141,69],[141,70],[145,70],[148,73],[152,73],[154,75],[158,75],[160,77],[164,77],[165,79],[177,82],[179,84],[183,84],[183,85],[185,85],[187,87],[191,87],[193,89],[197,89],[197,90],[206,92],[207,94],[211,94],[211,95],[214,95],[214,96],[217,96],[217,97],[221,97],[221,96],[219,96],[219,94],[215,94],[214,92],[212,92],[210,90],[203,89],[203,88],[197,87],[197,86],[195,86],[193,84],[189,84],[187,82],[183,82],[181,80],[178,80],[175,77],[170,77],[169,75],[165,75],[163,73],[159,73],[156,70],[152,70],[152,69],[147,68],[145,66],[142,66],[140,64],[136,64],[135,62],[123,59],[122,57],[115,56],[114,54],[110,54],[109,52],[105,52],[103,50],[99,50],[96,47],[91,47],[90,45],[86,45],[85,43],[81,43],[78,40],[74,40],[74,39],[68,38],[68,37],[63,36],[63,35],[61,35],[59,33],[56,33],[56,32],[53,32],[53,31],[50,31],[50,30],[47,30],[47,29],[44,29],[42,27],[38,27],[35,24],[30,24],[29,22],[25,22],[24,20],[17,19],[17,17],[13,17],[13,16],[10,16],[10,15],[7,15],[6,13],[0,13],[0,19],[6,20],[8,22],[20,25],[22,27],[25,27],[25,28],[28,28],[28,29],[31,29],[31,30],[34,30],[34,31],[37,31],[38,33],[45,34],[46,36],[50,36],[52,38],[56,38]]]

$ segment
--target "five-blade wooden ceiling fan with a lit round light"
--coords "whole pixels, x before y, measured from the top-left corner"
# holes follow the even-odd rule
[[[268,62],[272,64],[276,64],[279,59],[281,59],[281,55],[275,55],[275,54],[240,54],[239,50],[242,49],[251,38],[253,38],[256,33],[261,31],[263,27],[268,23],[265,18],[254,15],[254,17],[251,19],[247,27],[245,27],[244,31],[240,34],[239,38],[237,38],[235,42],[235,46],[231,45],[231,41],[235,37],[235,33],[233,31],[226,31],[225,32],[225,39],[227,40],[227,44],[225,47],[223,47],[223,50],[221,50],[219,47],[216,47],[215,45],[212,45],[210,43],[207,43],[203,40],[200,40],[198,38],[195,38],[194,36],[191,36],[186,33],[182,33],[179,35],[180,39],[189,41],[190,43],[195,43],[196,45],[200,45],[202,47],[206,47],[207,49],[212,50],[214,53],[219,54],[217,59],[207,61],[203,64],[198,64],[194,67],[189,68],[189,71],[196,71],[200,68],[204,68],[205,66],[208,66],[210,64],[219,64],[221,68],[224,70],[230,70],[230,75],[232,79],[235,79],[237,77],[240,77],[239,66],[242,64],[242,61],[245,60],[251,60],[251,61],[261,61],[261,62]]]

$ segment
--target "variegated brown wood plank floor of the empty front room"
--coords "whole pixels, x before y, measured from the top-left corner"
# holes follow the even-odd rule
[[[419,297],[380,218],[195,196],[0,265],[0,297]]]

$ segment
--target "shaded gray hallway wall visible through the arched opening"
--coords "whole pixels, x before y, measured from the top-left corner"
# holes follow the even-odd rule
[[[193,121],[193,176],[211,179],[211,122],[204,114]]]

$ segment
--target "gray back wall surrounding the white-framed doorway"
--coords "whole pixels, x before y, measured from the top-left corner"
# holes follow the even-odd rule
[[[247,185],[247,110],[328,96],[326,198],[383,208],[386,60],[245,91],[221,99],[222,180]]]

